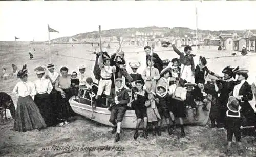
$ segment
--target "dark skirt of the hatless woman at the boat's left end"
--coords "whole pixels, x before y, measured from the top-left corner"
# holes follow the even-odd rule
[[[65,92],[66,98],[61,96],[61,93],[57,91],[56,100],[57,100],[57,119],[60,122],[68,120],[70,117],[75,116],[73,109],[69,104],[69,99],[72,97],[70,89],[63,89]]]

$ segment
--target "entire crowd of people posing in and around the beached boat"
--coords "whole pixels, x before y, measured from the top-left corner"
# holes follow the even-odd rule
[[[241,145],[241,132],[246,136],[255,131],[255,111],[248,102],[253,95],[251,86],[246,82],[248,70],[227,66],[222,71],[224,77],[220,77],[207,68],[205,57],[200,56],[195,68],[195,55],[191,54],[190,46],[186,46],[182,53],[173,44],[173,50],[180,57],[168,61],[161,60],[150,46],[144,47],[147,67],[142,74],[137,73],[140,62],[130,62],[132,73],[127,73],[123,51],[117,50],[111,57],[107,52],[99,52],[93,72],[98,83],[85,76],[85,66],[79,67],[79,74],[73,72],[69,76],[66,66],[60,68],[59,75],[53,64],[48,64],[47,75],[43,66],[35,68],[38,80],[32,83],[27,81],[24,66],[17,74],[22,81],[13,89],[19,96],[14,130],[68,124],[74,115],[68,100],[73,95],[77,99],[83,89],[89,89],[93,107],[107,107],[111,111],[109,121],[114,125],[115,142],[120,140],[121,122],[127,109],[135,110],[137,125],[134,139],[137,139],[142,121],[144,138],[148,135],[148,123],[152,124],[153,135],[161,135],[163,119],[168,133],[172,134],[176,129],[175,117],[179,118],[181,136],[184,137],[183,119],[187,108],[195,108],[195,120],[198,120],[199,112],[210,111],[212,127],[227,129],[228,150],[233,134]],[[124,83],[122,76],[125,77]],[[212,77],[211,81],[206,82],[207,76]],[[131,99],[128,90],[132,91]],[[102,97],[106,98],[105,105],[102,105]],[[207,108],[209,103],[210,110]],[[200,105],[202,110],[199,110]],[[241,131],[242,124],[252,128]]]

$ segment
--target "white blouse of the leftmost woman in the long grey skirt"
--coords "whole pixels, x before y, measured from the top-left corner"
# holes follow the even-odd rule
[[[36,95],[35,84],[33,82],[18,82],[13,88],[13,93],[20,97],[34,96]]]

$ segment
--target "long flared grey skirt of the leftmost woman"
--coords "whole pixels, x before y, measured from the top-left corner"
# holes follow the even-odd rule
[[[31,96],[19,97],[14,120],[14,131],[45,128],[46,123]]]

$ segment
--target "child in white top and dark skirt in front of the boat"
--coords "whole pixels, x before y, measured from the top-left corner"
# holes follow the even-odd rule
[[[178,86],[172,96],[172,103],[174,105],[174,116],[179,118],[181,125],[181,137],[185,137],[183,119],[186,117],[186,106],[184,104],[184,101],[186,100],[187,91],[184,88],[184,84],[184,81],[180,79]]]

